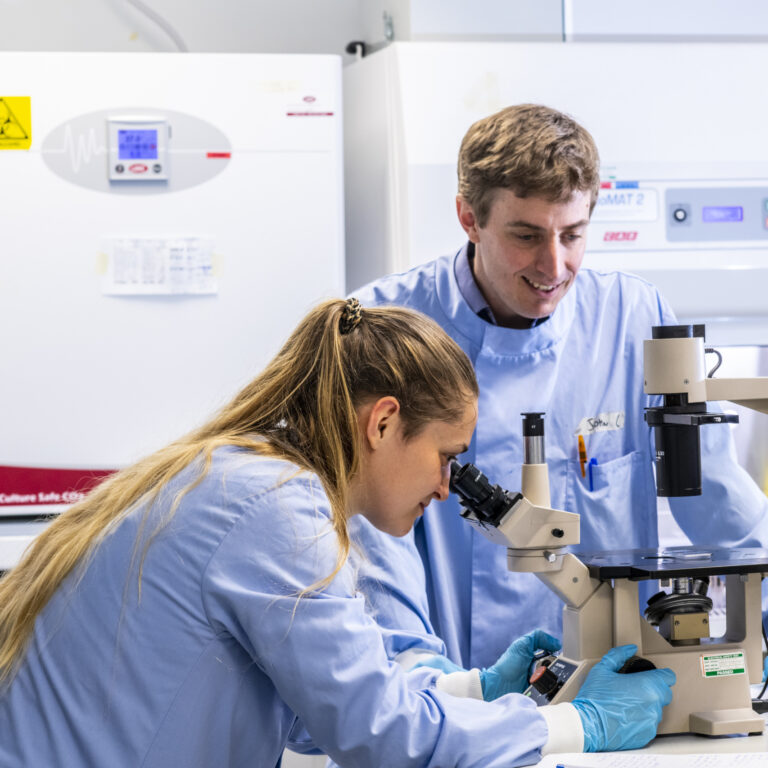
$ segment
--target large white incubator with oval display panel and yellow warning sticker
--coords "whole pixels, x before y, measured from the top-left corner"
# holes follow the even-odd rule
[[[30,148],[0,135],[0,514],[28,514],[60,507],[31,504],[24,471],[161,447],[343,295],[341,63],[0,53],[0,71],[0,102],[31,99]],[[170,126],[169,179],[110,181],[108,121],[142,115]],[[152,152],[125,162],[151,174]]]

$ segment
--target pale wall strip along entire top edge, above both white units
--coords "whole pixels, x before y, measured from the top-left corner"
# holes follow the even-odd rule
[[[193,52],[335,53],[397,40],[766,39],[765,0],[136,0]],[[0,0],[0,50],[174,51],[132,0]],[[344,56],[345,62],[352,58]]]

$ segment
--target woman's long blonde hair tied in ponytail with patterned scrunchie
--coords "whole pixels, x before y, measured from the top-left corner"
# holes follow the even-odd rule
[[[322,588],[349,555],[349,483],[360,461],[357,406],[369,398],[397,397],[409,437],[428,421],[459,418],[476,394],[469,360],[423,315],[394,307],[363,309],[351,300],[316,307],[265,370],[210,421],[102,482],[51,523],[0,580],[0,681],[23,658],[38,614],[64,579],[87,565],[105,533],[138,504],[144,505],[143,529],[163,488],[200,462],[196,480],[176,495],[149,546],[183,494],[203,479],[216,448],[241,447],[317,474],[339,543],[334,571],[312,585]]]

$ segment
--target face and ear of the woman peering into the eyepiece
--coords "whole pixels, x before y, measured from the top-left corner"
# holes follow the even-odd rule
[[[469,447],[477,400],[468,400],[456,422],[428,422],[408,440],[395,398],[381,398],[360,409],[359,416],[364,450],[352,512],[385,533],[404,536],[432,499],[448,498],[449,463]]]

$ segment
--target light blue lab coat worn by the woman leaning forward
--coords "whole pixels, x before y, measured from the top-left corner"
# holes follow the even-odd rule
[[[548,733],[533,703],[454,698],[434,670],[403,673],[351,567],[297,600],[337,553],[320,483],[297,473],[217,450],[147,550],[140,599],[137,560],[127,576],[140,515],[117,525],[44,609],[0,694],[0,765],[274,768],[297,717],[344,766],[536,762]]]

